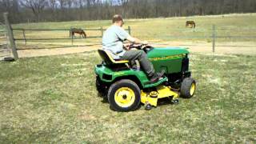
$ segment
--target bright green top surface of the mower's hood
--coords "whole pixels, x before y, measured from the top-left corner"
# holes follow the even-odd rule
[[[183,54],[189,54],[190,52],[186,50],[186,48],[181,47],[155,47],[153,50],[150,50],[149,53],[147,53],[148,58],[162,58],[172,55],[183,55]]]

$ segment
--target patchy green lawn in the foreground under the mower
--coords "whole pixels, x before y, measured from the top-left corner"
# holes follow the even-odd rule
[[[96,52],[0,62],[0,143],[255,142],[256,58],[190,54],[194,98],[129,113],[94,87]]]

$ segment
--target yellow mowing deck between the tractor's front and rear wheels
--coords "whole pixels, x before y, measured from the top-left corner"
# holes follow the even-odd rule
[[[170,86],[158,86],[157,91],[144,92],[141,93],[141,102],[144,104],[150,104],[151,106],[158,106],[159,98],[172,97],[173,99],[178,98],[178,93],[171,90]]]

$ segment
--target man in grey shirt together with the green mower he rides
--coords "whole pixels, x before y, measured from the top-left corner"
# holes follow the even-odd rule
[[[194,95],[196,83],[190,78],[188,50],[146,46],[124,32],[121,16],[115,15],[113,23],[103,35],[103,50],[98,50],[103,62],[95,66],[95,73],[98,92],[114,110],[136,110],[141,102],[150,109],[158,105],[159,98],[178,103],[179,96]],[[125,39],[144,44],[122,50]],[[134,60],[140,69],[134,69]]]

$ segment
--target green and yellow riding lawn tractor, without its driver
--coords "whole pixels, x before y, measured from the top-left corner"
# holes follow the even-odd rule
[[[130,48],[144,50],[156,72],[164,77],[151,82],[145,72],[134,69],[126,60],[114,60],[106,50],[98,50],[102,63],[95,66],[98,92],[117,111],[136,110],[140,103],[146,110],[158,105],[158,99],[169,98],[177,104],[178,98],[191,98],[196,82],[189,71],[189,51],[185,48],[132,45]],[[139,66],[138,66],[139,67]]]

